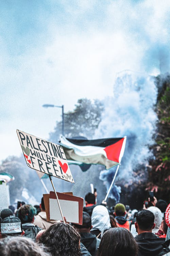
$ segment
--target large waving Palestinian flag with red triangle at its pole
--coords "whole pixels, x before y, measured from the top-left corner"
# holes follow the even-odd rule
[[[120,165],[125,143],[126,136],[98,140],[68,139],[62,136],[60,140],[69,164],[98,164],[104,165],[106,169]]]

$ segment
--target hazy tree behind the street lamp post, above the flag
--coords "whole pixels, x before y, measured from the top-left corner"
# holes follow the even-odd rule
[[[97,99],[94,102],[86,98],[79,99],[74,110],[64,114],[64,136],[92,138],[101,122],[103,110],[102,102]],[[54,132],[50,133],[50,141],[57,143],[61,130],[62,122],[56,122]]]

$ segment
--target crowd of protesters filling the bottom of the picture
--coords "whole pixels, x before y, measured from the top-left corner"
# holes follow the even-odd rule
[[[154,197],[143,209],[117,203],[108,208],[85,196],[82,225],[47,220],[44,199],[39,207],[20,204],[0,212],[2,256],[162,256],[170,255],[167,202]]]

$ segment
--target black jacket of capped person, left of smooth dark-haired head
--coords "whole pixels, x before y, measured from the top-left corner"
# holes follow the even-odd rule
[[[100,239],[96,238],[94,234],[91,233],[80,233],[81,243],[87,248],[89,253],[93,256],[97,253],[97,248],[100,244]]]

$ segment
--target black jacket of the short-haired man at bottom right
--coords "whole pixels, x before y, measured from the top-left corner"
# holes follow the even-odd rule
[[[164,245],[165,238],[158,238],[151,232],[143,232],[135,240],[139,246],[138,256],[160,256],[169,252],[169,248]]]

